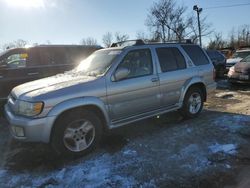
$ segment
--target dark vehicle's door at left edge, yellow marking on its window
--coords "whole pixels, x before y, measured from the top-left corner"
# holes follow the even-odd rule
[[[1,57],[0,99],[6,99],[15,86],[29,80],[27,78],[28,56],[26,49],[13,49]]]

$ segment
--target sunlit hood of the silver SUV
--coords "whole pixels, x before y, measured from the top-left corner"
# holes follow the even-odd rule
[[[16,99],[22,96],[33,98],[44,93],[90,82],[95,79],[96,77],[93,76],[86,76],[80,72],[69,71],[64,74],[58,74],[19,85],[12,90],[11,94]]]

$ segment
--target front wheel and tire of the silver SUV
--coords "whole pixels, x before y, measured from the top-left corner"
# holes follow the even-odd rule
[[[87,110],[71,110],[53,127],[51,145],[66,156],[81,156],[92,151],[102,135],[102,124],[97,115]]]

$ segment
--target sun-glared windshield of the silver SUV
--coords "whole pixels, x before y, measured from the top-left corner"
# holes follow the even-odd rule
[[[77,72],[84,72],[89,76],[103,75],[109,69],[112,61],[121,53],[121,50],[100,50],[91,54],[80,62]]]

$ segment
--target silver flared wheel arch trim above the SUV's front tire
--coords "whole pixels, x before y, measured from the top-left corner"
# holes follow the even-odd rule
[[[83,107],[83,106],[95,106],[103,113],[106,125],[109,125],[109,116],[106,110],[105,104],[102,100],[97,97],[81,97],[74,98],[67,101],[63,101],[56,106],[54,106],[48,113],[48,116],[59,116],[63,112],[70,110],[72,108]]]

